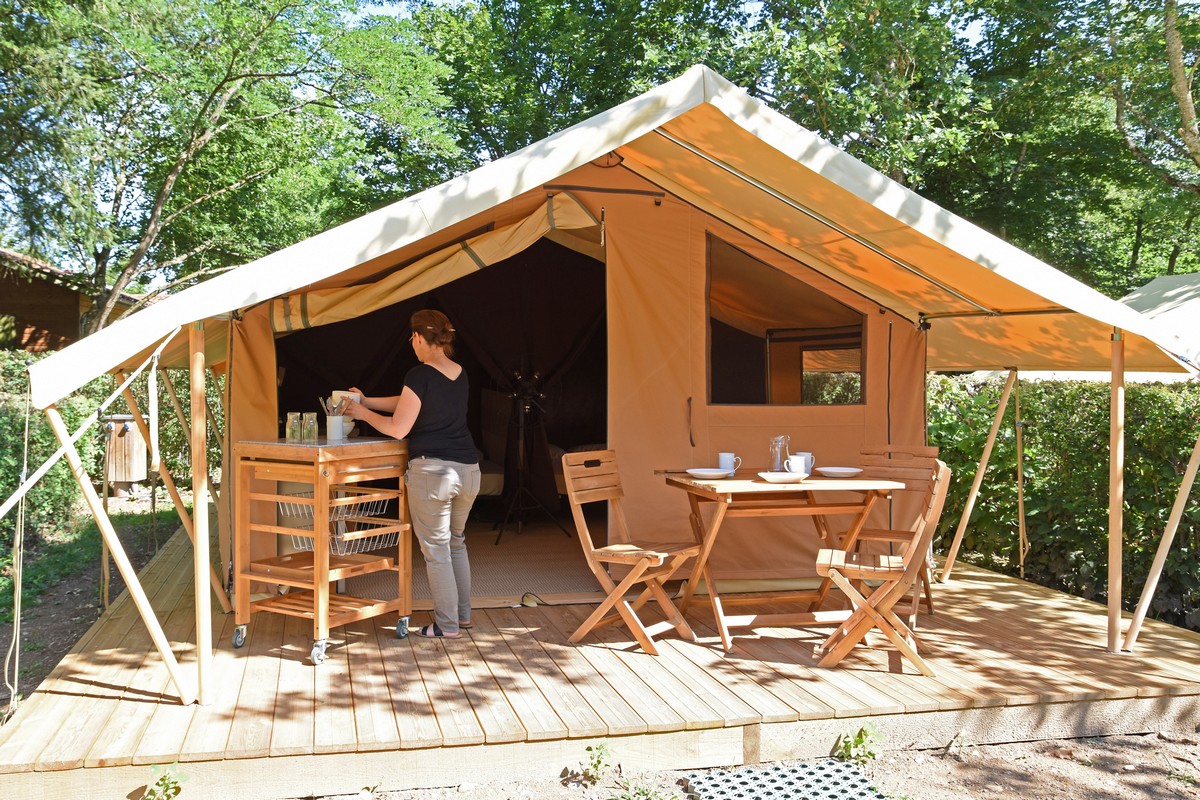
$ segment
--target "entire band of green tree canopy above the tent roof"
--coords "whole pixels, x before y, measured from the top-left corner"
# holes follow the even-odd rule
[[[103,309],[704,62],[1118,296],[1200,269],[1177,0],[0,0],[0,245]]]

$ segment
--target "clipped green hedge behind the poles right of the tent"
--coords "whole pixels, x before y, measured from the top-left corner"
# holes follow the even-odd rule
[[[954,473],[940,525],[954,536],[1000,399],[1002,381],[934,377],[929,440]],[[1090,600],[1106,600],[1109,386],[1022,381],[1028,579]],[[1013,403],[983,479],[960,558],[1009,575],[1019,571]],[[1200,386],[1133,384],[1126,390],[1126,608],[1141,594],[1188,463],[1200,419]],[[1200,487],[1198,487],[1200,488]],[[1194,488],[1166,559],[1151,614],[1200,627],[1200,493]]]

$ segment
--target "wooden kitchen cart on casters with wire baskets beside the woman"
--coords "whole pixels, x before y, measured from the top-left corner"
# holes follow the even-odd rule
[[[408,636],[413,590],[412,527],[404,501],[407,443],[240,441],[234,445],[234,462],[233,646],[246,643],[246,625],[258,612],[311,619],[314,664],[325,660],[331,627],[398,612],[396,636]],[[395,481],[396,488],[362,486],[366,481]],[[290,487],[281,491],[281,483]],[[286,537],[296,552],[251,559],[256,536]],[[330,587],[382,570],[396,572],[395,600],[354,597]],[[281,594],[252,600],[252,582],[278,585]]]

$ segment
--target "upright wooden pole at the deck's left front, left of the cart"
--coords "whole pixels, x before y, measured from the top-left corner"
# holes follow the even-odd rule
[[[187,342],[192,365],[192,536],[196,583],[196,652],[197,688],[200,705],[212,703],[212,608],[209,588],[203,576],[212,571],[209,558],[209,449],[204,417],[208,402],[204,397],[204,323],[192,323]],[[220,584],[220,581],[217,582]]]

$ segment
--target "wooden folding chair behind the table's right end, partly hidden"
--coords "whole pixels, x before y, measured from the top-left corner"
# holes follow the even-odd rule
[[[895,524],[888,528],[864,528],[858,534],[859,546],[869,542],[886,542],[898,545],[902,549],[920,536],[919,527],[926,524],[925,510],[929,506],[930,492],[932,491],[931,479],[937,473],[940,463],[937,447],[920,445],[863,447],[863,477],[899,481],[905,485],[905,488],[892,493],[894,515],[899,517]],[[936,527],[936,524],[935,519],[934,525]],[[916,626],[917,612],[920,609],[922,602],[930,614],[934,613],[931,576],[932,551],[926,548],[920,569],[919,587],[913,587],[912,596],[908,599],[912,601],[912,610],[908,613],[910,627]]]

